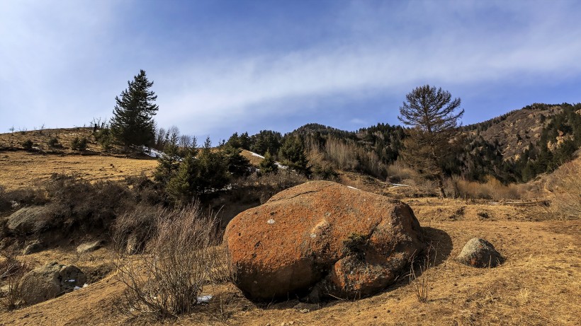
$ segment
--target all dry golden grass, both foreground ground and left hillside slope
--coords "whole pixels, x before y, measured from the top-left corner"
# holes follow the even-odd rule
[[[0,152],[0,185],[30,187],[52,173],[116,180],[151,173],[156,165],[154,159],[4,151]],[[340,179],[371,192],[388,189],[383,182],[352,173],[342,173]],[[417,301],[414,286],[405,277],[376,296],[332,301],[308,313],[293,308],[298,303],[295,298],[256,304],[225,283],[205,288],[214,297],[192,315],[164,322],[135,320],[120,308],[124,286],[112,272],[60,298],[11,312],[0,310],[0,325],[581,325],[580,219],[555,219],[542,205],[431,197],[402,200],[412,206],[437,248],[436,264],[420,276],[429,278],[426,303]],[[473,237],[489,240],[507,261],[493,269],[455,262]],[[57,261],[96,274],[111,262],[109,248],[79,256],[76,245],[19,258],[30,267]]]

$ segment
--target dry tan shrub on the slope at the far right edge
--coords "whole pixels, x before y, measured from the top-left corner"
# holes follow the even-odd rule
[[[581,161],[572,161],[555,171],[551,209],[556,216],[565,219],[581,217]]]

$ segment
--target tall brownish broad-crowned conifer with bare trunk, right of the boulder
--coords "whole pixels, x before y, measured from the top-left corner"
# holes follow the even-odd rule
[[[419,86],[406,95],[397,118],[411,126],[404,141],[405,161],[438,180],[441,197],[444,193],[444,157],[458,135],[458,119],[464,110],[455,112],[460,98],[451,99],[448,91],[429,85]]]

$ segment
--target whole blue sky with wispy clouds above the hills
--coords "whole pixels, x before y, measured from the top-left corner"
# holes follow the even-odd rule
[[[160,127],[214,141],[397,124],[429,83],[463,124],[581,100],[580,1],[0,0],[0,132],[111,117],[140,69]]]

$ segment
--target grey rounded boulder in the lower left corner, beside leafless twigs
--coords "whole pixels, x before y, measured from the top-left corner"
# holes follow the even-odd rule
[[[21,280],[21,295],[29,305],[56,298],[75,286],[83,286],[86,276],[81,269],[73,265],[63,265],[57,262],[45,264],[33,269]]]

